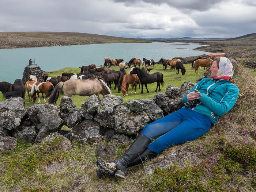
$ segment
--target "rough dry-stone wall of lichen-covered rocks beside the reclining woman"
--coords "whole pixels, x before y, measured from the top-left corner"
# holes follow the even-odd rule
[[[53,104],[35,104],[25,108],[21,97],[0,103],[0,150],[11,150],[17,139],[41,142],[51,133],[63,134],[70,141],[94,144],[105,141],[124,143],[135,138],[143,127],[182,107],[182,97],[194,86],[184,82],[181,89],[169,85],[165,93],[153,99],[123,103],[123,97],[90,96],[81,108],[63,96],[60,108]],[[123,104],[122,104],[123,103]],[[61,130],[63,125],[71,131]]]

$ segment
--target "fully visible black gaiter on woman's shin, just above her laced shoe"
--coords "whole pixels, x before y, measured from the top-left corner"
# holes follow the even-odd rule
[[[149,145],[150,139],[145,135],[140,134],[135,141],[132,143],[131,147],[126,151],[126,153],[119,159],[114,160],[118,169],[126,174],[126,169],[129,163],[131,163],[136,157],[139,156]]]

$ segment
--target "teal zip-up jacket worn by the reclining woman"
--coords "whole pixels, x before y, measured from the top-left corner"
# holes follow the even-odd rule
[[[197,103],[196,107],[189,107],[189,109],[207,116],[214,125],[217,123],[219,116],[231,110],[237,101],[239,93],[236,85],[224,79],[204,78],[188,93],[193,92],[195,89],[200,91],[202,97],[199,98],[200,102]],[[214,91],[212,91],[213,89]],[[183,97],[183,104],[188,101],[188,93]]]

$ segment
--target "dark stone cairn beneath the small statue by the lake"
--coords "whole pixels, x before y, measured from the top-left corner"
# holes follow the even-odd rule
[[[44,80],[44,71],[36,64],[27,65],[23,72],[22,81],[25,84],[27,81],[30,81],[29,76],[34,75],[37,77],[38,81]]]

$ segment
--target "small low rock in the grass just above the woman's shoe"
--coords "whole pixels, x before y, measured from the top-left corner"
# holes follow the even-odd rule
[[[97,157],[104,160],[111,160],[116,152],[117,149],[114,145],[99,145],[95,151]]]

